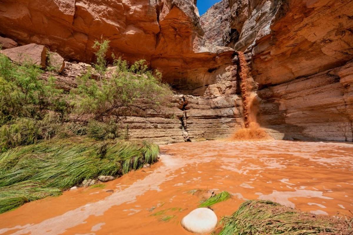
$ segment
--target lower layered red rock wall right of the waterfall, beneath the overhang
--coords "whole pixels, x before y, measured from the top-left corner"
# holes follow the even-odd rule
[[[258,121],[277,139],[353,141],[353,61],[258,91]]]

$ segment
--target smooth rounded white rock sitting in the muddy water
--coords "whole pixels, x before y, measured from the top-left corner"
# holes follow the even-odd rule
[[[208,208],[198,208],[191,211],[181,220],[181,226],[191,233],[210,233],[217,225],[215,212]]]

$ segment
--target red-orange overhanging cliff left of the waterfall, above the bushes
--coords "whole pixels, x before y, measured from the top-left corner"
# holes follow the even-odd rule
[[[110,40],[130,62],[145,59],[173,87],[203,95],[232,65],[234,50],[203,39],[195,0],[36,0],[0,2],[0,32],[20,44],[46,45],[65,59],[94,61],[92,45]],[[211,71],[211,72],[210,72]],[[206,85],[206,87],[205,87]]]

